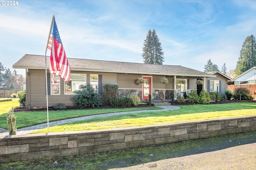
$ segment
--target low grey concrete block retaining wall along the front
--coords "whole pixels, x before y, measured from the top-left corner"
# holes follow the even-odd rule
[[[256,116],[0,139],[0,162],[50,158],[256,131]]]

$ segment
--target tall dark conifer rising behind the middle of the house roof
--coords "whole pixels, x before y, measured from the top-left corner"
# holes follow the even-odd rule
[[[146,64],[163,64],[164,52],[155,29],[149,30],[142,47],[142,57]]]

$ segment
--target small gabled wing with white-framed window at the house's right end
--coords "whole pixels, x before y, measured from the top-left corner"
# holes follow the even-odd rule
[[[218,70],[208,73],[216,76],[206,78],[208,92],[217,92],[218,84],[218,93],[220,93],[220,95],[225,99],[225,91],[228,89],[228,82],[231,82],[232,78],[226,76]]]

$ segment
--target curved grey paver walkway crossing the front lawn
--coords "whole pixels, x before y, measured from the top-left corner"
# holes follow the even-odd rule
[[[163,109],[157,109],[157,110],[138,110],[138,111],[124,111],[124,112],[116,112],[116,113],[105,113],[105,114],[99,114],[99,115],[90,115],[90,116],[84,116],[84,117],[76,117],[72,119],[64,119],[64,120],[58,120],[58,121],[52,121],[49,122],[49,127],[61,125],[64,123],[70,123],[73,121],[81,121],[86,119],[93,119],[96,117],[107,117],[107,116],[113,116],[113,115],[123,115],[123,114],[130,114],[130,113],[144,113],[144,112],[153,112],[153,111],[170,111],[170,110],[177,110],[180,109],[178,106],[160,106]],[[24,135],[28,133],[32,133],[34,131],[38,131],[40,129],[47,128],[47,123],[43,123],[40,125],[34,125],[30,127],[24,127],[21,129],[17,129],[16,135]],[[4,138],[6,135],[9,135],[8,131],[0,133],[0,138]]]

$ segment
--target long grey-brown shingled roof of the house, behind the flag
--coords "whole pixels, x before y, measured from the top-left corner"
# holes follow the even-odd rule
[[[50,57],[46,57],[46,66],[50,65]],[[133,74],[153,74],[169,76],[201,76],[215,77],[214,75],[187,68],[184,66],[158,65],[144,63],[126,63],[117,61],[100,61],[88,59],[68,58],[72,71],[96,71],[96,72],[116,72]],[[24,55],[17,61],[13,68],[45,69],[45,56]]]

